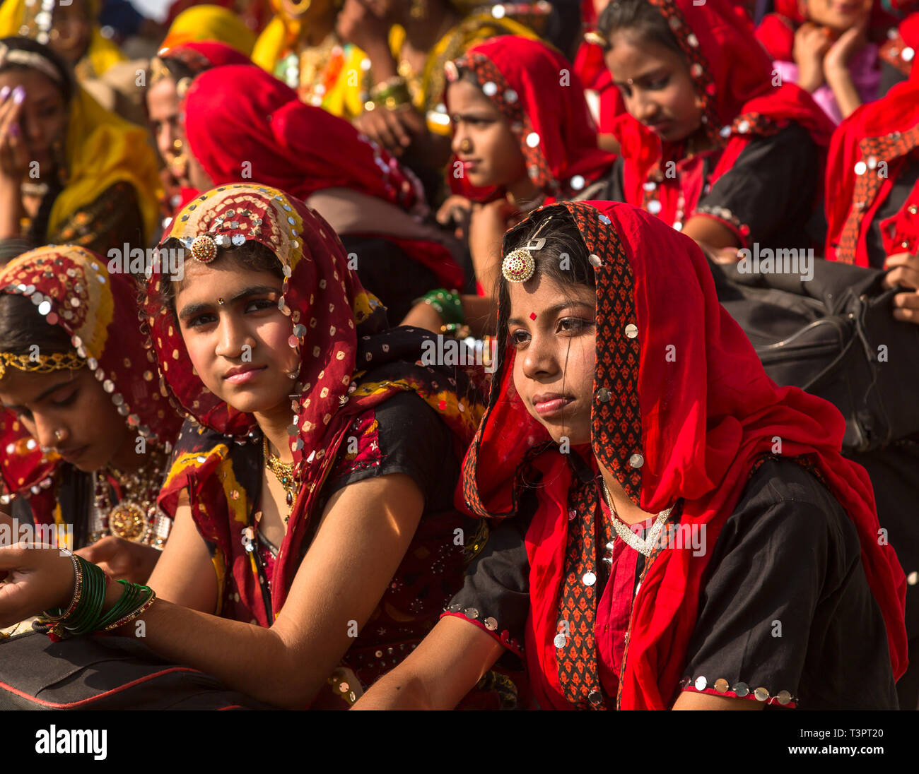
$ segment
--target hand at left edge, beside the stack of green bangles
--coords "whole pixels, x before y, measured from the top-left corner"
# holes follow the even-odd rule
[[[74,598],[74,563],[58,548],[0,548],[0,628],[62,608]]]

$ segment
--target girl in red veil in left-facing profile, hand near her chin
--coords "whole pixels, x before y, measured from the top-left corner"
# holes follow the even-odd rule
[[[417,305],[405,324],[439,331],[468,322],[494,331],[494,291],[501,238],[540,204],[590,197],[616,157],[597,148],[584,87],[559,51],[506,35],[472,47],[447,65],[447,109],[453,122],[453,191],[438,212],[469,243],[478,297],[440,291],[436,307]],[[459,319],[445,316],[455,298]]]

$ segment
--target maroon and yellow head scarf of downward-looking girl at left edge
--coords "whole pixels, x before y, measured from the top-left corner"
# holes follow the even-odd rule
[[[82,247],[40,247],[3,267],[0,292],[30,298],[48,323],[66,331],[128,427],[168,450],[182,420],[160,394],[155,358],[144,346],[138,321],[137,288],[123,272],[119,266],[119,272],[109,273],[104,258]],[[62,459],[42,454],[12,412],[3,412],[2,426],[0,473],[6,494],[43,495]],[[47,509],[32,504],[40,521],[51,521],[53,502]]]

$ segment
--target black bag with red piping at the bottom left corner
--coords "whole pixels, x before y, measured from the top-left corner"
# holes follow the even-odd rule
[[[274,709],[198,669],[170,664],[133,637],[53,643],[28,633],[0,643],[0,710],[229,708]]]

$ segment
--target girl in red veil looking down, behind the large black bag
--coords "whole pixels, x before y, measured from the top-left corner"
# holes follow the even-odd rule
[[[711,252],[807,249],[833,125],[777,85],[749,17],[727,0],[617,0],[598,22],[627,114],[598,199],[625,201]]]

